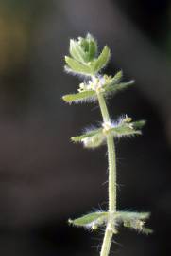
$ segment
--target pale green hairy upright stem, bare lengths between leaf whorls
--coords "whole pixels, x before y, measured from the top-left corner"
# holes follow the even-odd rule
[[[106,101],[102,94],[97,94],[102,118],[104,122],[111,122]],[[109,163],[109,214],[116,211],[116,154],[113,137],[110,133],[107,135],[107,147],[108,147],[108,163]],[[100,252],[100,256],[108,256],[111,248],[111,239],[113,231],[111,227],[111,218],[108,220],[108,224],[105,231],[105,236]],[[109,229],[110,227],[110,229]]]

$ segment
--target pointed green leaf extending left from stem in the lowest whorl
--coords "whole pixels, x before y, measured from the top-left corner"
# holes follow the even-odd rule
[[[107,217],[108,217],[108,212],[97,211],[97,212],[86,214],[75,220],[69,219],[68,222],[77,227],[92,227],[94,224],[97,226],[103,224],[103,222],[107,220]]]

